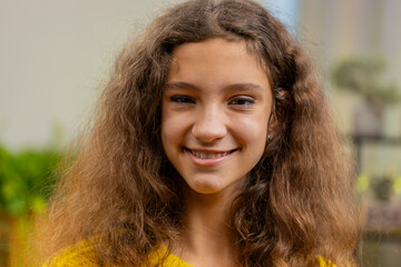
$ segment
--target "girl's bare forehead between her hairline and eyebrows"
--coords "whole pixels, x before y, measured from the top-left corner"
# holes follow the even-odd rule
[[[260,59],[250,52],[243,40],[208,39],[176,47],[167,81],[250,82],[267,79]]]

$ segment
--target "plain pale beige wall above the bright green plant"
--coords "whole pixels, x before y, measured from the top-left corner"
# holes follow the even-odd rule
[[[70,140],[116,53],[173,2],[0,1],[0,142]]]

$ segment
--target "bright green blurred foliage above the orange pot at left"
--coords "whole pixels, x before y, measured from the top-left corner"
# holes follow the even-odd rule
[[[60,155],[50,149],[11,154],[0,147],[0,211],[22,216],[43,210],[59,161]]]

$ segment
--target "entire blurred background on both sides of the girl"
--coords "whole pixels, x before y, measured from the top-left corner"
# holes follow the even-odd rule
[[[124,43],[179,0],[0,0],[0,267],[25,257],[62,150]],[[363,266],[401,263],[401,1],[260,0],[315,60],[369,209]]]

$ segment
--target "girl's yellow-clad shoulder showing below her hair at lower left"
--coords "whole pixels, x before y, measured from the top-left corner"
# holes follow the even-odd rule
[[[43,267],[95,266],[94,248],[89,241],[80,241],[61,250],[45,263]]]

